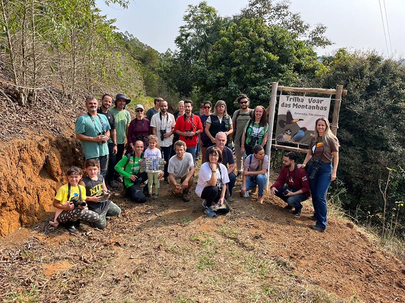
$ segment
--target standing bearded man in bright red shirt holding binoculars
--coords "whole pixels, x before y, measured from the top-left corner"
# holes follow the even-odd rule
[[[195,163],[195,147],[197,146],[198,135],[203,132],[203,124],[198,116],[192,113],[193,103],[191,100],[184,101],[184,115],[179,116],[174,131],[180,135],[180,140],[186,142],[186,152],[193,156]]]

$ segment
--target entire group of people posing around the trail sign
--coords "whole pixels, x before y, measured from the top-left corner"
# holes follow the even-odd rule
[[[252,193],[257,188],[257,200],[263,204],[269,163],[265,154],[268,109],[262,106],[250,109],[250,99],[240,94],[236,98],[240,109],[232,118],[223,100],[215,104],[213,112],[212,103],[206,101],[196,113],[192,112],[191,100],[180,101],[178,111],[171,114],[168,113],[167,101],[155,98],[154,107],[146,113],[142,105],[136,105],[136,117],[131,120],[125,109],[130,102],[125,94],[117,94],[114,101],[111,95],[105,94],[98,107],[94,96],[86,98],[88,112],[76,120],[75,133],[84,150],[87,176],[82,180],[79,168],[69,169],[69,183],[59,189],[54,200],[57,212],[53,224],[61,223],[74,233],[79,220],[94,222],[94,226],[104,228],[109,217],[120,213],[119,207],[109,199],[107,189],[107,186],[118,187],[118,182],[123,183],[126,195],[133,201],[145,203],[147,197],[158,198],[159,179],[164,178],[171,185],[172,192],[188,202],[198,149],[201,151],[201,167],[195,193],[203,199],[208,216],[229,212],[228,200],[233,194],[237,176],[242,178],[240,196],[247,197],[249,191]],[[271,193],[286,201],[286,208],[294,208],[294,214],[300,216],[301,203],[312,192],[313,218],[317,221],[313,229],[324,231],[326,192],[336,178],[338,141],[330,131],[327,119],[318,119],[316,123],[315,136],[304,163],[296,164],[295,154],[286,154],[284,168],[271,186]],[[229,148],[232,134],[234,155]],[[141,169],[143,159],[163,159],[164,169],[146,172]],[[317,174],[313,173],[313,179],[308,180],[303,169],[307,164],[310,176],[316,166]],[[72,204],[71,201],[78,203]]]

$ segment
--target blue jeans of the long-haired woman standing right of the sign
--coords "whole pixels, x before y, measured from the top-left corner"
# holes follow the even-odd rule
[[[312,163],[308,167],[308,176],[311,175]],[[329,185],[331,185],[332,164],[323,163],[319,169],[315,179],[309,179],[309,187],[311,188],[312,205],[315,211],[316,226],[326,228],[327,204],[326,195]]]

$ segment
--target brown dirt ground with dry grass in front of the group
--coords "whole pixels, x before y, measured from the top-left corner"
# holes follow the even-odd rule
[[[352,224],[312,224],[266,195],[208,218],[200,199],[135,205],[80,235],[46,221],[0,240],[0,298],[27,302],[405,302],[405,266]],[[28,300],[27,298],[34,299]],[[17,300],[16,300],[17,301]]]

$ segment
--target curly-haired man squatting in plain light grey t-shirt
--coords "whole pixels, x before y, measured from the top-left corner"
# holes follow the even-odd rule
[[[183,201],[188,202],[188,192],[194,184],[194,160],[190,153],[186,153],[187,146],[184,141],[178,140],[174,145],[176,155],[169,160],[169,181],[173,185],[173,192],[176,195],[182,193]]]

